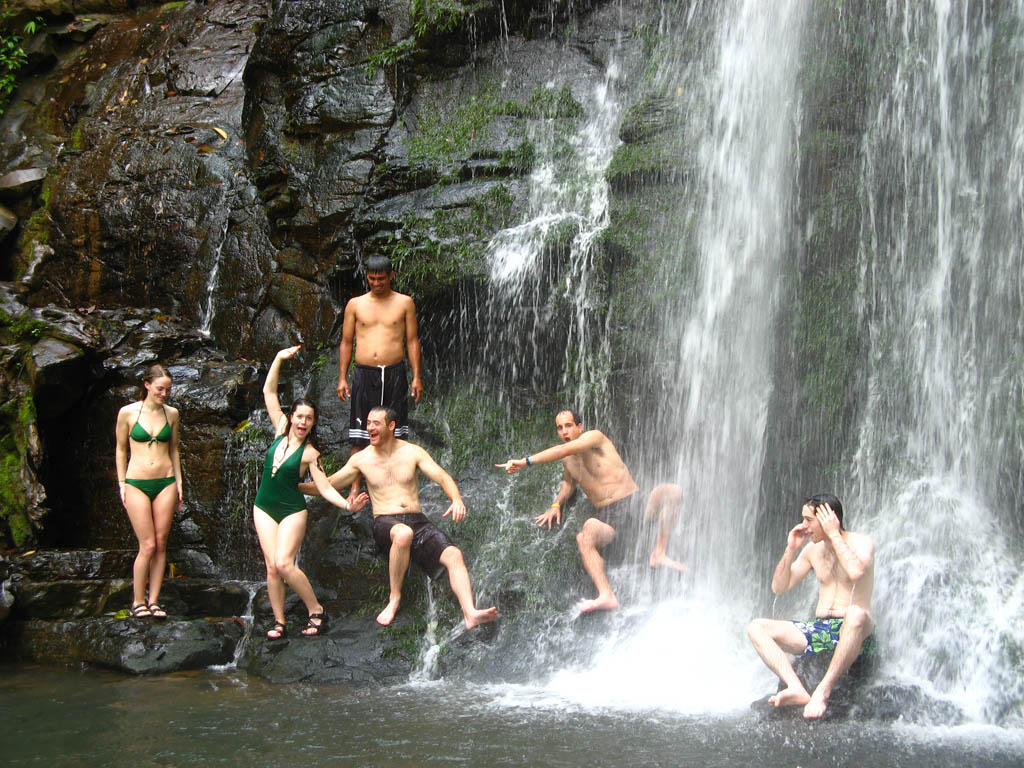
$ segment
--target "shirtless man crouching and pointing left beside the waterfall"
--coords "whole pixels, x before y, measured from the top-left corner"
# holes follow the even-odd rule
[[[618,599],[611,591],[604,570],[604,558],[599,550],[611,544],[616,529],[627,524],[630,517],[636,514],[641,495],[629,468],[603,432],[597,429],[584,431],[583,422],[573,411],[560,411],[555,416],[555,428],[562,440],[561,445],[553,445],[539,454],[510,459],[495,466],[512,475],[534,464],[559,460],[562,462],[564,472],[558,495],[548,511],[538,515],[534,521],[538,525],[547,525],[548,528],[551,528],[552,522],[561,524],[562,505],[572,498],[577,486],[583,488],[595,514],[587,518],[583,528],[577,534],[577,546],[580,548],[583,567],[597,588],[597,597],[584,601],[580,605],[580,612],[615,610]],[[651,567],[665,565],[685,570],[685,565],[666,555],[682,496],[682,488],[666,483],[655,487],[647,500],[646,517],[659,518],[657,541],[650,556]]]

